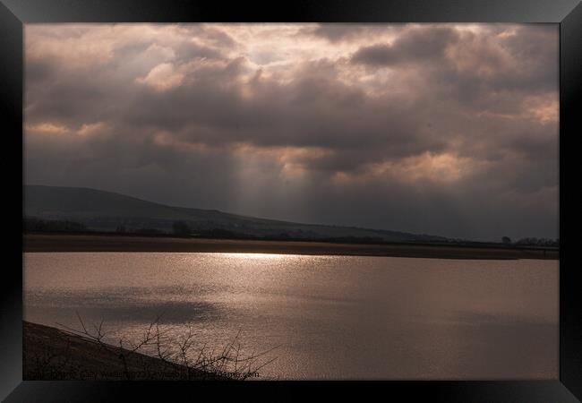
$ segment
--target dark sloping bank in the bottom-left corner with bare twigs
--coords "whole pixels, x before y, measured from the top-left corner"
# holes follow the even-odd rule
[[[22,379],[232,380],[31,322],[22,322]]]

